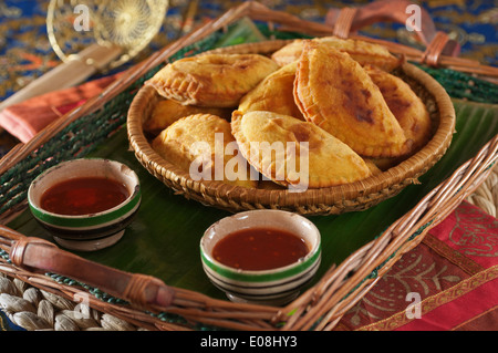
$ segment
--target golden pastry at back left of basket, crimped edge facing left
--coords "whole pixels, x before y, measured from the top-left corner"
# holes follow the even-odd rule
[[[183,104],[236,107],[279,65],[259,54],[201,54],[167,64],[151,80],[157,92]]]

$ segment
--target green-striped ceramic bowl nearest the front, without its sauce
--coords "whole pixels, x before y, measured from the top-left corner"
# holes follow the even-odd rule
[[[241,229],[273,228],[302,237],[309,252],[298,261],[269,270],[240,270],[217,261],[215,245]],[[307,218],[282,210],[250,210],[226,217],[204,233],[200,259],[209,280],[234,302],[282,305],[295,299],[317,272],[321,261],[321,237]]]

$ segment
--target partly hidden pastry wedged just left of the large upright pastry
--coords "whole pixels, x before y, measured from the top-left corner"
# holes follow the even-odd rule
[[[240,100],[239,111],[267,111],[303,121],[293,95],[295,68],[297,62],[290,63],[263,79]]]

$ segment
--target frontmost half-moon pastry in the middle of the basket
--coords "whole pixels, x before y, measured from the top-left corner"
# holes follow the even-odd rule
[[[272,112],[235,111],[231,128],[246,159],[291,189],[330,187],[371,175],[356,153],[312,123]]]

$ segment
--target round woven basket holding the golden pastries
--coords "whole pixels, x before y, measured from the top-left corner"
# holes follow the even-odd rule
[[[239,44],[218,49],[218,53],[269,54],[288,41]],[[194,180],[189,174],[162,158],[143,131],[155,104],[160,100],[155,89],[144,85],[128,111],[127,129],[132,148],[141,164],[177,194],[229,211],[260,208],[283,209],[301,215],[332,215],[364,210],[404,187],[417,183],[448,148],[455,129],[455,111],[446,91],[430,75],[412,64],[403,64],[400,73],[422,97],[430,114],[434,136],[415,155],[388,170],[364,180],[341,186],[292,193],[287,189],[258,189],[232,186],[217,180]]]

